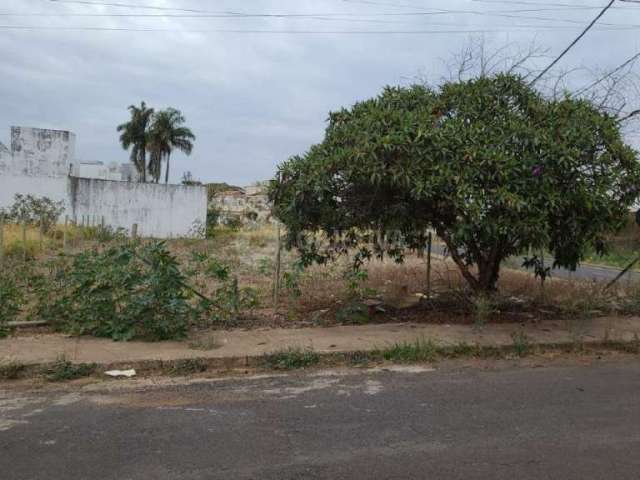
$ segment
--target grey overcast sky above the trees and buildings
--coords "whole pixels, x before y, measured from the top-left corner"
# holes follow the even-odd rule
[[[116,125],[144,100],[182,110],[197,136],[190,157],[172,160],[174,181],[190,170],[246,185],[320,141],[329,111],[446,75],[471,36],[557,55],[606,3],[2,0],[0,141],[11,125],[71,130],[79,159],[124,162]],[[616,2],[600,25],[559,69],[613,68],[640,51],[640,3]]]

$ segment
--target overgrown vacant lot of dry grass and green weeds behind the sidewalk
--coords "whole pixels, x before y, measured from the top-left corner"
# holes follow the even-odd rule
[[[6,228],[6,227],[5,227]],[[347,258],[303,268],[295,251],[281,252],[274,299],[277,230],[219,226],[208,239],[158,242],[72,227],[66,252],[56,243],[25,262],[6,255],[0,278],[0,325],[47,320],[51,328],[114,340],[187,338],[194,348],[210,328],[313,326],[388,321],[528,322],[639,314],[640,287],[621,280],[609,290],[587,280],[544,282],[505,267],[498,293],[469,291],[455,263],[433,255],[404,262],[372,260],[357,273]],[[6,238],[6,236],[5,236]],[[204,297],[204,298],[203,298]],[[274,303],[276,302],[277,303]]]

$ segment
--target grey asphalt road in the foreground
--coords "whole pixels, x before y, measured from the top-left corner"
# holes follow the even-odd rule
[[[640,478],[640,362],[0,391],[0,478]]]

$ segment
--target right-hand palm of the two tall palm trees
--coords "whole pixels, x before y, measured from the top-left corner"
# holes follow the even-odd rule
[[[169,183],[169,161],[174,149],[190,155],[196,136],[184,126],[185,118],[175,108],[161,110],[153,116],[149,130],[149,172],[158,182],[162,170],[162,161],[166,159],[165,183]]]

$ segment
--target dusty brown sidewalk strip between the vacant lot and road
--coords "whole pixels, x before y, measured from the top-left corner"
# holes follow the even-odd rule
[[[0,340],[0,360],[12,359],[33,365],[55,361],[60,355],[78,363],[102,365],[146,360],[187,358],[238,359],[256,357],[288,347],[312,348],[316,352],[349,352],[385,348],[394,343],[431,339],[439,345],[459,343],[482,346],[513,344],[511,334],[523,329],[531,344],[561,344],[604,339],[630,341],[640,337],[640,317],[545,321],[526,325],[420,325],[383,324],[329,328],[257,329],[213,331],[216,348],[196,350],[190,342],[112,342],[91,337],[58,334],[9,337]]]

